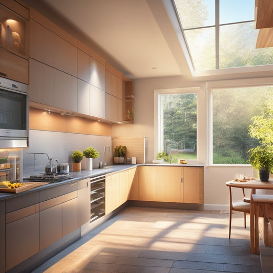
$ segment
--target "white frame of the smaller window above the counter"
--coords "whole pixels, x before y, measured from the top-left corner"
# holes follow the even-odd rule
[[[197,111],[197,139],[196,139],[196,159],[192,160],[187,160],[188,162],[192,164],[197,164],[199,162],[199,129],[198,129],[198,124],[199,124],[199,110],[198,110],[198,97],[199,97],[199,92],[201,91],[200,87],[188,87],[188,88],[171,88],[171,89],[156,89],[154,90],[154,158],[156,158],[157,153],[161,151],[160,149],[160,142],[162,142],[162,137],[159,134],[159,131],[161,129],[160,126],[162,126],[162,111],[159,112],[160,109],[160,95],[171,95],[171,94],[192,94],[196,93],[197,95],[197,104],[196,104],[196,111]]]

